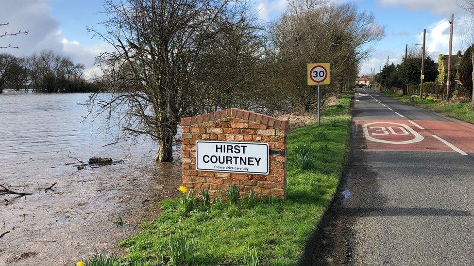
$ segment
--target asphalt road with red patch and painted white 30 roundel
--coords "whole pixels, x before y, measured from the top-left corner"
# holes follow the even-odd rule
[[[367,89],[353,114],[340,200],[303,264],[474,265],[474,125]]]

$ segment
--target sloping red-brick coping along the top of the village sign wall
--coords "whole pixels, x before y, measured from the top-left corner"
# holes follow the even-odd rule
[[[268,115],[264,115],[261,113],[250,112],[242,109],[237,108],[229,108],[224,109],[216,112],[191,116],[191,117],[183,117],[181,118],[181,125],[194,125],[200,124],[207,121],[213,121],[218,119],[223,119],[227,117],[234,117],[243,120],[248,120],[250,122],[256,122],[259,124],[264,124],[271,126],[276,129],[287,129],[288,128],[288,120],[278,119],[274,117],[270,117]]]

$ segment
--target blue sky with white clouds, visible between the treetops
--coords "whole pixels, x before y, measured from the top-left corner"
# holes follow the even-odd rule
[[[265,22],[278,17],[286,8],[286,0],[253,0],[254,10]],[[386,36],[372,44],[371,58],[361,65],[359,74],[377,72],[387,62],[399,63],[405,44],[422,42],[426,29],[426,52],[435,61],[440,53],[448,52],[449,17],[455,14],[453,54],[464,51],[466,45],[466,15],[457,0],[333,0],[354,2],[360,12],[373,13],[378,24],[385,27]],[[462,4],[463,0],[458,0]],[[84,63],[87,76],[97,73],[95,57],[111,50],[110,45],[86,31],[86,27],[100,27],[104,15],[101,0],[0,0],[1,32],[29,31],[28,35],[3,37],[0,46],[11,44],[18,49],[2,49],[18,56],[42,49],[67,55],[77,63]]]

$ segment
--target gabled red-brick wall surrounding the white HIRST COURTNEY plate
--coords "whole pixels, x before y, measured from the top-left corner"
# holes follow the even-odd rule
[[[252,188],[256,196],[286,194],[286,146],[288,120],[276,119],[240,109],[226,109],[181,119],[183,141],[183,186],[199,193],[209,189],[212,196],[225,197],[230,185],[246,196]],[[196,171],[196,141],[242,141],[269,144],[269,174]]]

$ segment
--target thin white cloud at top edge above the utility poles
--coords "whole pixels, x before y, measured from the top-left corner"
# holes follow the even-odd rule
[[[430,10],[447,15],[459,10],[456,0],[378,0],[383,6],[405,6],[412,11]],[[462,3],[464,0],[458,0]]]

